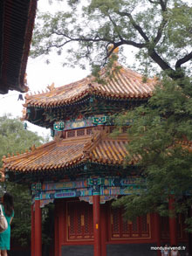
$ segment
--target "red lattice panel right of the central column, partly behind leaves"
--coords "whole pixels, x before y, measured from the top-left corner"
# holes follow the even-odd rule
[[[123,209],[111,209],[112,239],[149,238],[149,216],[141,216],[133,221],[123,218]]]

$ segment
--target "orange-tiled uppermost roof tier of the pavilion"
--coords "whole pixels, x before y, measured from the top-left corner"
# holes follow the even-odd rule
[[[49,92],[26,95],[25,107],[62,107],[74,104],[87,96],[96,95],[109,100],[146,99],[154,91],[155,79],[143,82],[143,77],[127,68],[120,68],[112,79],[99,84],[93,76],[73,82],[69,85],[48,86]]]

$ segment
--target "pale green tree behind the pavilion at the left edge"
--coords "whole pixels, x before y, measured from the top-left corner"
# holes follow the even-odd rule
[[[24,124],[10,115],[0,117],[0,157],[10,153],[24,152],[32,145],[39,146],[45,139],[36,133],[24,129]],[[2,166],[2,163],[1,163]],[[5,182],[1,190],[7,190],[14,197],[15,217],[12,222],[11,239],[17,245],[29,246],[31,242],[31,195],[26,184]],[[16,246],[17,246],[16,245]]]

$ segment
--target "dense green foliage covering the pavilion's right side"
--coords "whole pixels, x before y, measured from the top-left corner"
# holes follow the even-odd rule
[[[192,88],[189,79],[179,86],[165,77],[157,85],[154,96],[146,105],[119,116],[117,125],[127,128],[130,142],[127,146],[127,163],[138,157],[135,163],[142,170],[145,188],[140,194],[122,197],[114,203],[125,205],[128,218],[158,211],[168,215],[168,197],[175,195],[176,213],[187,214],[192,192]],[[187,144],[187,146],[186,146]]]

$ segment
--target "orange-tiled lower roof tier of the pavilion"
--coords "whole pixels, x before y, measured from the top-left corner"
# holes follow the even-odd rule
[[[87,162],[120,165],[128,154],[126,146],[126,139],[103,138],[100,132],[78,139],[60,139],[19,156],[4,156],[3,170],[24,174],[65,170]]]

